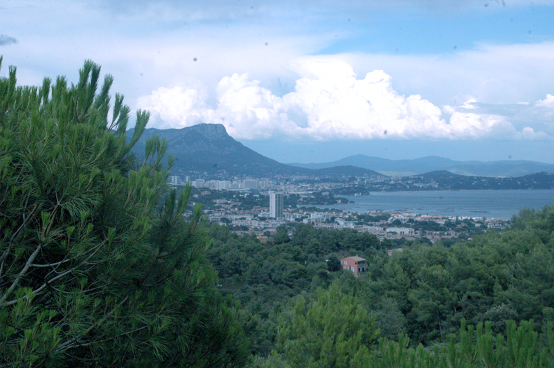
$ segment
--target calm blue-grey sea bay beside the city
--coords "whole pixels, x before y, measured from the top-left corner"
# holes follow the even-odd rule
[[[440,216],[487,217],[509,220],[524,208],[540,210],[554,203],[554,190],[458,190],[371,192],[341,196],[355,203],[318,205],[343,212],[413,212]]]

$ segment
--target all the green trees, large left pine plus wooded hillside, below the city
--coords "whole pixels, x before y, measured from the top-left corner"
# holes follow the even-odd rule
[[[0,77],[0,367],[554,365],[554,205],[465,242],[297,223],[262,243],[185,215],[112,82],[91,61],[75,84]]]

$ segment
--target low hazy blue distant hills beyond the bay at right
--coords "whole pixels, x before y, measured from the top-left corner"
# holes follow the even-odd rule
[[[337,165],[352,165],[365,169],[375,170],[384,174],[404,173],[424,174],[445,170],[454,174],[465,176],[524,176],[537,172],[554,173],[554,165],[537,163],[526,160],[502,160],[502,161],[455,161],[438,156],[415,158],[413,160],[388,160],[386,158],[355,155],[342,158],[330,163],[290,163],[289,165],[309,169],[322,169]]]

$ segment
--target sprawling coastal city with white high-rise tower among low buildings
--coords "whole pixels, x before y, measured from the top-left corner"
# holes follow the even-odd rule
[[[400,181],[400,178],[393,180]],[[170,183],[186,184],[177,176],[171,176]],[[208,221],[229,226],[238,234],[256,234],[261,241],[271,237],[278,226],[285,226],[292,234],[298,223],[305,223],[316,228],[369,232],[381,241],[436,243],[439,240],[471,240],[475,234],[487,230],[503,230],[510,222],[486,217],[447,217],[379,210],[357,213],[321,208],[321,204],[348,202],[348,199],[333,194],[341,192],[344,187],[341,183],[274,183],[269,179],[255,178],[234,181],[197,179],[190,183],[195,188],[191,201],[202,203]],[[354,183],[364,181],[356,178]],[[326,203],[321,199],[325,199]]]

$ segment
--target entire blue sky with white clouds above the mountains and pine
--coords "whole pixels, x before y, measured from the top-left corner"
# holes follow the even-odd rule
[[[19,84],[85,59],[149,127],[206,122],[283,163],[554,163],[554,0],[0,0]]]

